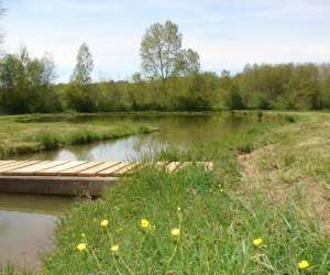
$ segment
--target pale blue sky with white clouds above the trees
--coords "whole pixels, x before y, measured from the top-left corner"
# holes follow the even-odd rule
[[[50,53],[57,81],[68,81],[81,43],[94,79],[130,79],[140,43],[155,22],[172,20],[202,70],[232,74],[254,63],[330,62],[330,0],[2,0],[3,50]]]

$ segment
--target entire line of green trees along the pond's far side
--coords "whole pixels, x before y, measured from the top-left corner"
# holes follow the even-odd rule
[[[0,61],[0,112],[212,111],[330,108],[330,64],[255,64],[221,75],[201,72],[199,55],[183,48],[178,26],[151,25],[141,41],[141,73],[130,80],[91,80],[84,43],[68,84],[54,84],[54,61],[23,47]]]

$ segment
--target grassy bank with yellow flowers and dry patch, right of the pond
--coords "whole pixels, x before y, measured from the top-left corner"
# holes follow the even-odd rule
[[[290,118],[160,156],[212,173],[150,168],[77,204],[41,274],[328,274],[330,114]]]

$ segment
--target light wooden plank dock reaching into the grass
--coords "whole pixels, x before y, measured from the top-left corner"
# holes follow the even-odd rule
[[[167,173],[193,163],[158,162]],[[212,169],[212,163],[196,163]],[[0,161],[0,193],[99,196],[119,177],[132,175],[146,164],[86,161]]]

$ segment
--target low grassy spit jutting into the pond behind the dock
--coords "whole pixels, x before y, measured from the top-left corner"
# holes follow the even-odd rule
[[[0,158],[55,150],[65,145],[151,133],[156,130],[141,123],[109,124],[92,121],[84,123],[84,121],[70,121],[70,117],[61,118],[56,116],[0,117]]]

